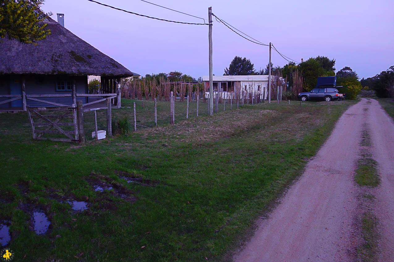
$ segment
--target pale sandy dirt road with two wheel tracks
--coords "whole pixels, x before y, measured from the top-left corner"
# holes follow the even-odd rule
[[[354,170],[365,126],[381,176],[381,185],[374,189],[374,212],[382,236],[379,261],[392,261],[394,124],[373,99],[362,99],[346,110],[304,174],[268,218],[258,222],[255,235],[234,255],[234,261],[357,260],[360,230],[355,216],[360,187],[354,182]]]

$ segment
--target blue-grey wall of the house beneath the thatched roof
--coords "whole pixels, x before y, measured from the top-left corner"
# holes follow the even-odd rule
[[[54,75],[34,75],[25,76],[25,90],[26,95],[39,95],[39,94],[70,94],[70,97],[36,97],[36,99],[51,101],[60,104],[71,105],[72,97],[71,91],[57,91],[56,82],[58,81],[72,81],[75,79],[75,90],[76,93],[87,93],[87,76],[54,76]],[[0,77],[0,94],[10,95],[12,92],[16,92],[17,85],[22,88],[22,78],[18,75],[14,76],[2,76]],[[0,101],[7,100],[9,98],[0,97]],[[87,103],[86,97],[77,97],[77,100],[82,100],[83,103]],[[20,101],[20,102],[19,102]],[[17,100],[16,103],[5,103],[0,104],[0,107],[15,107],[22,106],[22,100]],[[27,99],[26,103],[28,106],[51,106],[50,104],[32,101]]]

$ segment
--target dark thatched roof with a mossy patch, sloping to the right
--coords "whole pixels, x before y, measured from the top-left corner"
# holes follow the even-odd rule
[[[0,42],[1,74],[102,75],[130,77],[133,73],[77,37],[55,20],[46,21],[51,33],[44,40],[21,44]]]

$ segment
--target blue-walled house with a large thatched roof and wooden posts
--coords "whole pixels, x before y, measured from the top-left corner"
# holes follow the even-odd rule
[[[134,75],[55,20],[47,18],[45,22],[51,33],[37,45],[9,39],[0,42],[0,110],[23,110],[26,104],[48,106],[37,101],[37,95],[43,97],[44,94],[52,94],[45,100],[52,102],[52,105],[71,105],[73,93],[88,93],[88,75],[101,76],[100,93],[103,94],[116,93],[120,78]],[[89,103],[89,97],[80,96],[78,100]]]

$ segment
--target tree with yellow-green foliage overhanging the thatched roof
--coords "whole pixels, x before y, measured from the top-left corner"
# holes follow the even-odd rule
[[[44,20],[52,15],[39,7],[43,0],[2,0],[0,2],[0,40],[16,39],[21,43],[35,44],[50,34]]]

